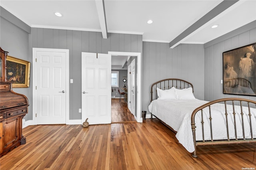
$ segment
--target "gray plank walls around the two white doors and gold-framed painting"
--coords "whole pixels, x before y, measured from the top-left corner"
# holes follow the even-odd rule
[[[70,120],[81,119],[81,53],[108,53],[108,51],[142,53],[142,35],[112,34],[103,39],[100,32],[30,28],[1,7],[0,45],[9,55],[32,63],[32,48],[69,49],[70,56]],[[14,89],[28,97],[30,107],[25,119],[32,120],[32,64],[30,87]]]

